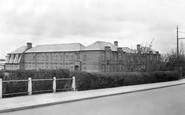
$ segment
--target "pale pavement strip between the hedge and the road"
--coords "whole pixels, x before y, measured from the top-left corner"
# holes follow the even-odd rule
[[[32,96],[20,96],[0,99],[0,114],[12,111],[27,110],[51,105],[68,104],[82,100],[100,99],[102,97],[118,96],[122,94],[133,94],[135,92],[150,91],[153,89],[165,89],[173,86],[185,86],[185,79],[171,82],[161,82],[144,85],[123,86],[88,91],[70,91],[59,93],[48,93]],[[110,99],[111,100],[111,99]],[[185,105],[185,104],[184,104]],[[116,105],[115,105],[116,106]],[[159,114],[158,114],[159,115]]]

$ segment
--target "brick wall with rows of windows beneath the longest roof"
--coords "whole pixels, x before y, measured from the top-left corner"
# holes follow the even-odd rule
[[[76,52],[46,52],[25,54],[25,69],[70,69],[78,61]]]

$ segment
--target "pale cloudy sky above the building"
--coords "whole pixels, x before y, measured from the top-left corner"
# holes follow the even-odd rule
[[[118,41],[167,53],[185,37],[184,0],[0,0],[0,58],[27,42]],[[184,32],[184,33],[183,33]],[[185,40],[181,41],[185,43]]]

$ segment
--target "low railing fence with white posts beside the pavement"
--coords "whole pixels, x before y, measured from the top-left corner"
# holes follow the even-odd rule
[[[28,93],[28,95],[32,95],[33,90],[32,90],[32,85],[33,82],[35,81],[53,81],[53,88],[52,91],[53,93],[55,93],[57,91],[56,88],[56,81],[60,81],[60,80],[72,80],[72,90],[75,91],[76,90],[76,84],[75,84],[75,77],[72,78],[57,78],[53,77],[53,79],[32,79],[32,78],[28,78],[28,80],[5,80],[3,81],[2,78],[0,78],[0,98],[3,97],[3,95],[12,95],[12,94],[21,94],[21,93]],[[3,83],[10,83],[10,82],[28,82],[28,92],[16,92],[16,93],[8,93],[8,94],[3,94]],[[42,91],[47,91],[47,90],[42,90]],[[42,92],[42,91],[37,91],[37,92]]]

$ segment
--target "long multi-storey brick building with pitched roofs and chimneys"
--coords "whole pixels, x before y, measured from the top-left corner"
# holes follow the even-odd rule
[[[87,47],[80,43],[37,45],[31,43],[8,53],[5,63],[6,70],[39,70],[39,69],[70,69],[87,72],[118,72],[124,71],[128,60],[142,57],[139,63],[143,69],[150,69],[159,62],[159,52],[142,52],[127,47],[118,47],[118,42],[97,41]],[[133,59],[132,59],[133,58]]]

